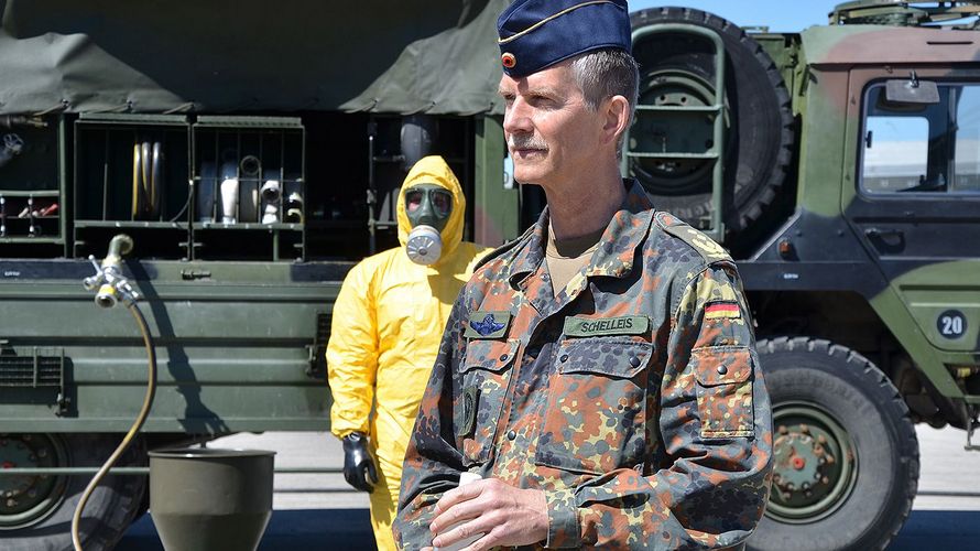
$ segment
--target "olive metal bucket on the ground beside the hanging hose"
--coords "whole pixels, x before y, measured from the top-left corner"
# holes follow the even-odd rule
[[[272,516],[275,452],[150,452],[150,515],[166,551],[254,551]]]

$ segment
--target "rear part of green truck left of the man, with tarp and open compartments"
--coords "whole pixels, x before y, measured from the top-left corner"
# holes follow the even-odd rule
[[[83,288],[116,235],[159,359],[121,468],[329,428],[331,302],[357,260],[398,246],[421,156],[459,175],[468,238],[519,235],[504,6],[0,1],[0,548],[72,547],[81,490],[143,401],[137,325]],[[146,508],[146,477],[117,473],[85,509],[86,550]]]

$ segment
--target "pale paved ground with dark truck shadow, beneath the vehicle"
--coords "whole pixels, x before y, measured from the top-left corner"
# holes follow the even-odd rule
[[[918,495],[891,551],[977,549],[980,541],[980,452],[963,450],[956,429],[916,430],[922,460]],[[237,434],[209,445],[272,450],[277,467],[342,465],[339,442],[328,433]],[[273,514],[259,551],[373,549],[367,494],[350,491],[340,474],[280,474]],[[163,551],[151,515],[139,519],[117,551]]]

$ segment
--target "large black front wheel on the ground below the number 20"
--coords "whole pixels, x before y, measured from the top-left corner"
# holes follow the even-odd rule
[[[918,484],[918,441],[891,381],[858,353],[806,337],[760,341],[775,472],[749,549],[884,549]]]

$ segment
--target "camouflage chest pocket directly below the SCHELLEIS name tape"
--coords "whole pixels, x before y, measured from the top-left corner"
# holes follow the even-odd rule
[[[596,474],[642,463],[652,356],[653,344],[629,337],[563,342],[535,463]]]

